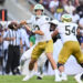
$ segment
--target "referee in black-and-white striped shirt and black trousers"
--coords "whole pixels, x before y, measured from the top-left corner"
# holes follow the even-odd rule
[[[20,41],[21,41],[21,33],[18,30],[18,23],[11,22],[8,28],[7,34],[3,35],[3,39],[9,41],[8,48],[8,61],[6,65],[6,73],[9,74],[10,71],[12,74],[20,74],[19,70],[17,69],[20,64]]]

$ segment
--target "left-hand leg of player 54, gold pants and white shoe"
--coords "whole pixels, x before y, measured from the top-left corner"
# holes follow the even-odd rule
[[[62,80],[66,81],[68,76],[64,73],[64,64],[68,61],[68,59],[70,58],[70,55],[72,54],[72,50],[71,50],[71,42],[65,42],[63,44],[63,48],[59,54],[59,60],[58,60],[58,68],[59,71],[61,72],[61,77]]]

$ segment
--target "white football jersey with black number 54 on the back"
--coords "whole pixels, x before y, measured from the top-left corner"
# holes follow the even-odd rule
[[[75,23],[62,23],[60,22],[58,25],[58,30],[61,37],[62,42],[66,42],[66,41],[77,41],[76,39],[76,29],[77,29],[77,24]]]

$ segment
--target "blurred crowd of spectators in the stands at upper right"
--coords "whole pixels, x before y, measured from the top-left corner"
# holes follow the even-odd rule
[[[37,2],[43,4],[55,19],[61,20],[63,13],[70,13],[75,18],[73,21],[80,19],[82,12],[83,2],[79,0],[35,0]]]

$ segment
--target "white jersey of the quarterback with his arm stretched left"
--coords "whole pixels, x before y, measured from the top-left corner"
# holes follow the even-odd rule
[[[50,18],[49,17],[41,15],[41,18],[38,19],[34,15],[31,18],[31,21],[33,25],[32,31],[41,30],[44,33],[44,35],[35,34],[37,42],[49,41],[52,39],[50,34],[50,24],[49,24]]]

